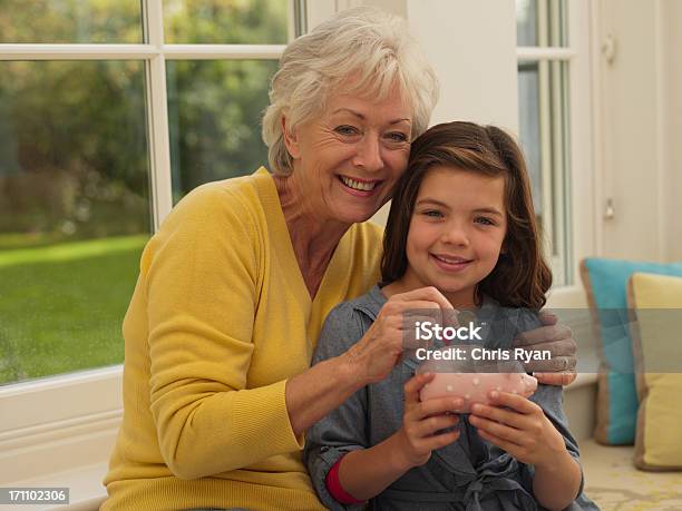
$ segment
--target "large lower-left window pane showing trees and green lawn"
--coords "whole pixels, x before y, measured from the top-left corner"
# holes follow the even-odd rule
[[[150,232],[144,63],[0,76],[0,383],[120,363]]]

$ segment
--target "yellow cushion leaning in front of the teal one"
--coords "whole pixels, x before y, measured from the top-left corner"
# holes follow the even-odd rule
[[[635,273],[629,304],[640,399],[635,464],[682,470],[682,278]]]

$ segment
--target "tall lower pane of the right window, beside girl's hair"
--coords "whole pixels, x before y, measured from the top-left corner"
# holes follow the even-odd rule
[[[518,66],[520,143],[532,179],[533,204],[552,256],[554,284],[571,275],[568,68],[565,61]]]

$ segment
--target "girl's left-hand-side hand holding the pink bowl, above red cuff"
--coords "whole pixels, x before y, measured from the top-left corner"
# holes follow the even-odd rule
[[[419,391],[433,380],[433,373],[413,376],[405,384],[405,412],[402,428],[396,433],[398,464],[405,471],[420,466],[429,461],[431,451],[444,448],[459,438],[459,431],[438,433],[459,422],[455,414],[447,413],[459,409],[461,399],[441,397],[419,401]]]

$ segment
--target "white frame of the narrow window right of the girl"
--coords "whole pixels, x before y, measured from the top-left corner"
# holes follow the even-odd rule
[[[544,2],[540,0],[538,7]],[[554,286],[549,292],[548,305],[555,308],[586,307],[585,293],[579,282],[579,262],[583,257],[594,254],[596,247],[596,228],[594,226],[595,188],[597,186],[593,156],[593,118],[592,118],[592,28],[591,4],[588,0],[568,0],[567,2],[567,47],[517,47],[516,57],[520,62],[559,61],[568,66],[568,139],[569,168],[568,173],[568,228],[572,243],[567,249],[572,258],[573,282],[568,285]],[[540,17],[544,14],[540,13]],[[540,73],[542,75],[542,73]],[[540,89],[543,77],[540,76]],[[545,77],[546,79],[546,77]],[[542,94],[542,92],[540,92]],[[556,96],[556,95],[555,95]],[[547,106],[540,100],[540,116],[545,115]],[[545,112],[543,114],[543,109]],[[546,136],[542,134],[540,136]],[[546,131],[546,130],[545,130]],[[546,157],[543,156],[545,159]],[[552,161],[543,164],[543,204],[554,203],[553,190],[546,186],[549,183],[547,174],[552,170]],[[545,213],[545,212],[543,212]],[[544,226],[548,232],[548,226]]]

